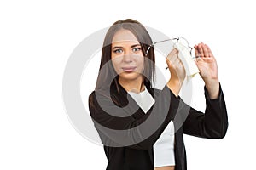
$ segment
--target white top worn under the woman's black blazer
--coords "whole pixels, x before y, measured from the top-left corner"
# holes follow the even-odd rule
[[[134,92],[128,92],[128,94],[131,95],[145,113],[154,105],[154,98],[149,94],[147,88],[138,94]],[[154,167],[175,165],[174,133],[174,126],[171,121],[160,135],[160,138],[154,143]]]

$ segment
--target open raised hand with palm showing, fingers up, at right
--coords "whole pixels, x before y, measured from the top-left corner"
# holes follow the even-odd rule
[[[196,65],[212,99],[218,97],[219,82],[217,62],[207,44],[195,45]]]

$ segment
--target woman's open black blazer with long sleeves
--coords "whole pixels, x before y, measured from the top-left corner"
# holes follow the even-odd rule
[[[224,138],[228,116],[221,87],[218,99],[210,99],[205,88],[205,113],[186,105],[166,86],[162,90],[148,89],[148,92],[154,97],[155,103],[146,114],[119,84],[118,88],[112,84],[110,93],[109,90],[99,90],[90,94],[90,116],[104,145],[108,158],[107,170],[154,170],[153,145],[171,120],[176,130],[176,170],[187,169],[183,133],[208,139]],[[124,111],[116,111],[117,106]],[[133,108],[138,109],[132,111]],[[148,124],[148,127],[157,127],[154,133],[148,133],[142,126],[143,123],[147,125],[149,117],[155,120]],[[127,130],[132,128],[135,130]]]

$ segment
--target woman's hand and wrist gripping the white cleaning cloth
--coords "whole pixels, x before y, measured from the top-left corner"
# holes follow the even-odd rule
[[[178,58],[178,50],[173,48],[170,54],[166,57],[166,63],[171,73],[171,78],[167,82],[167,87],[172,90],[172,93],[178,96],[178,93],[183,85],[186,77],[186,72],[182,61]]]

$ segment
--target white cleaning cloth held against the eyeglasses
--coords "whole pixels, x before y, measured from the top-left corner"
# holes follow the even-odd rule
[[[192,78],[196,73],[199,73],[197,65],[189,53],[189,49],[183,46],[181,42],[175,42],[173,47],[178,50],[178,58],[183,62],[187,77]]]

